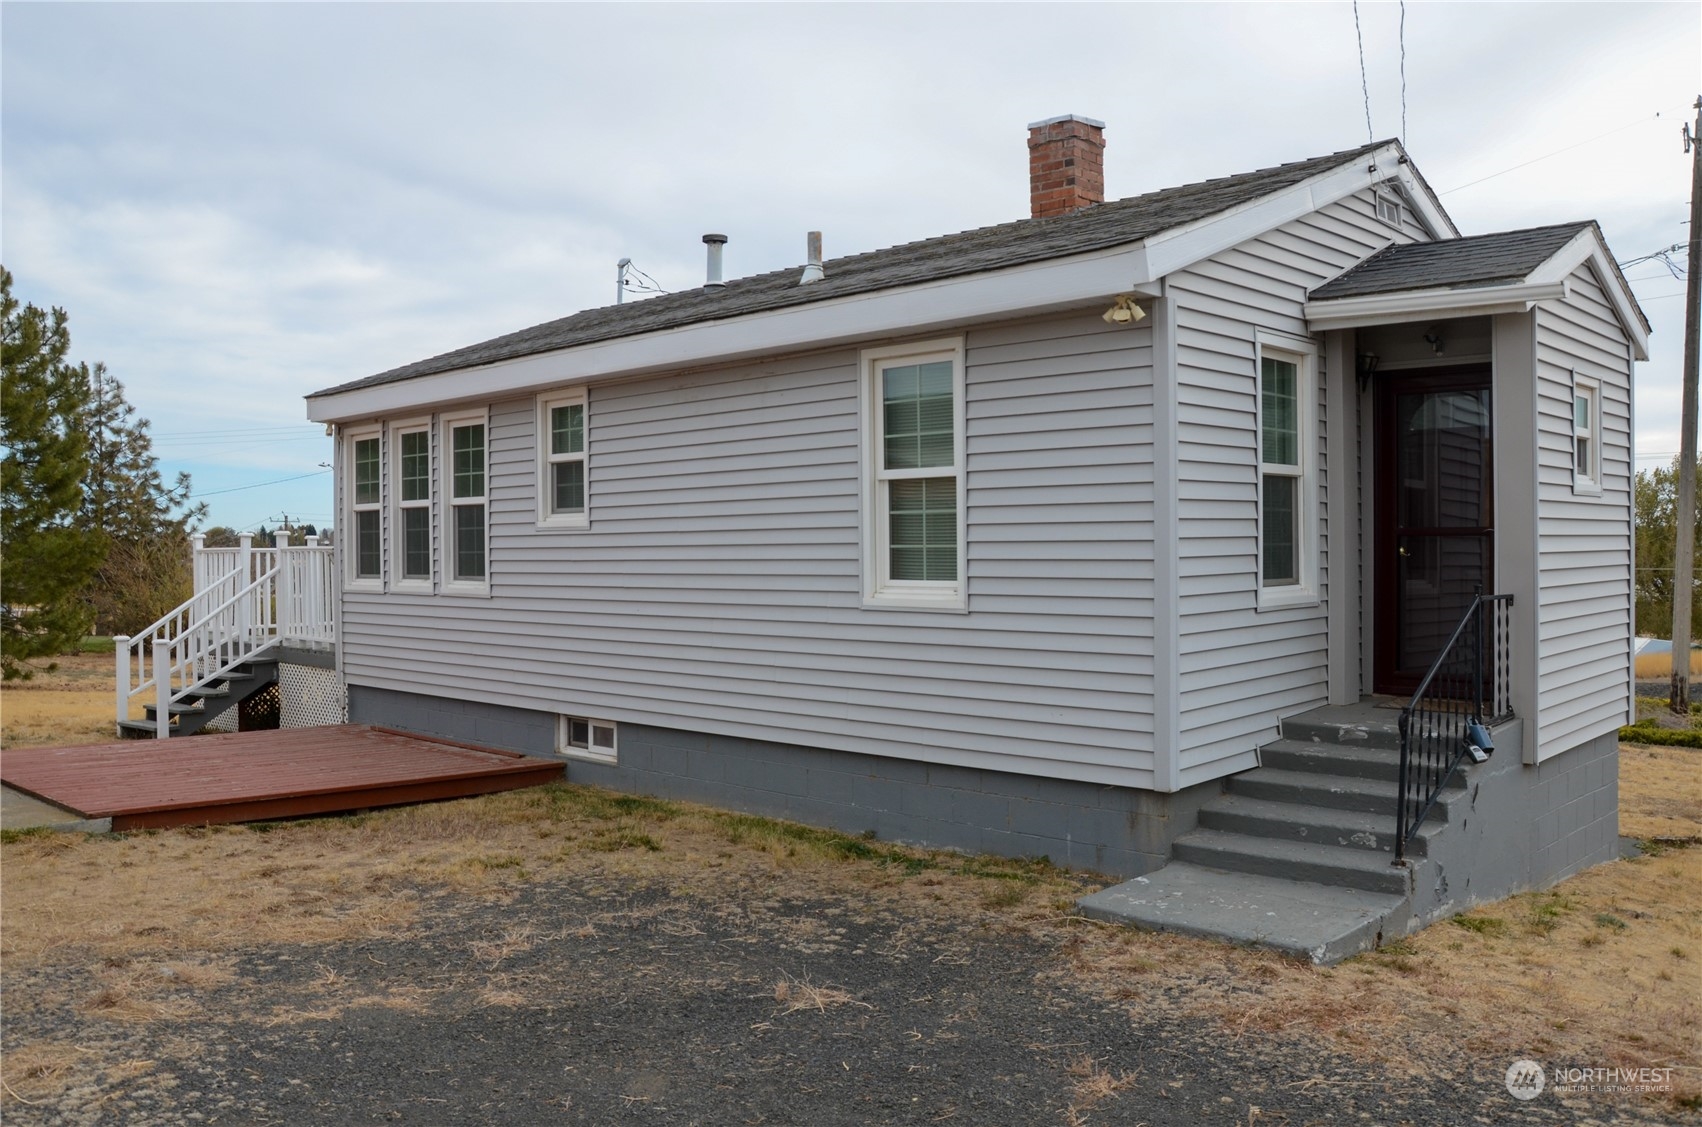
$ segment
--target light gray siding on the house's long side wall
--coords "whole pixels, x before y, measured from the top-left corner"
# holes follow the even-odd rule
[[[970,613],[863,606],[854,349],[592,388],[591,529],[538,526],[490,407],[490,599],[351,596],[352,684],[1152,783],[1151,330],[963,339]]]

